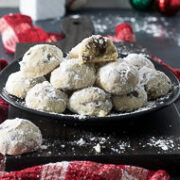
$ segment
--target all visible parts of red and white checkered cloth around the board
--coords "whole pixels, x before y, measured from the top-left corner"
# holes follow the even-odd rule
[[[44,30],[34,27],[28,16],[15,14],[6,15],[0,19],[0,31],[4,47],[9,52],[15,52],[17,42],[42,42],[62,39],[62,35],[47,34]],[[115,27],[115,36],[108,36],[113,41],[134,42],[135,34],[130,24],[119,24]],[[175,69],[155,56],[152,56],[163,66],[172,71],[180,80],[180,69]],[[6,60],[0,60],[0,71],[7,66]],[[7,118],[8,104],[0,99],[0,123]],[[169,180],[167,172],[157,172],[144,168],[100,164],[89,161],[58,162],[40,165],[21,171],[5,172],[4,157],[0,155],[0,180]]]

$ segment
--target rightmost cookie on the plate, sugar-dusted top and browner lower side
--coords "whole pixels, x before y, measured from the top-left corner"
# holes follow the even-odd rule
[[[161,71],[143,67],[139,73],[140,83],[144,85],[149,100],[166,95],[172,88],[170,79]]]

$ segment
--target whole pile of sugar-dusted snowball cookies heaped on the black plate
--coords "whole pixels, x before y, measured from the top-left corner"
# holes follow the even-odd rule
[[[84,39],[66,57],[53,45],[30,48],[11,74],[6,91],[27,107],[54,113],[107,116],[130,112],[166,95],[170,79],[142,54],[118,58],[113,42],[100,35]]]

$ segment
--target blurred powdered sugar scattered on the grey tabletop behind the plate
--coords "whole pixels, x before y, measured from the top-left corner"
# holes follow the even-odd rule
[[[99,14],[101,17],[101,14]],[[141,17],[141,19],[136,19],[135,17],[121,17],[120,15],[108,14],[105,18],[97,18],[96,16],[91,16],[91,20],[94,23],[96,32],[105,33],[108,27],[115,27],[120,23],[131,23],[135,32],[144,32],[151,34],[154,37],[168,36],[168,32],[165,27],[169,26],[164,17],[157,18],[155,16]],[[158,23],[161,22],[161,23]]]

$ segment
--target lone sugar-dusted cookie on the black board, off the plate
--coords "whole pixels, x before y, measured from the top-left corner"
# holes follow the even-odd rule
[[[25,119],[6,120],[0,125],[0,153],[18,155],[40,148],[42,135],[39,128]]]

